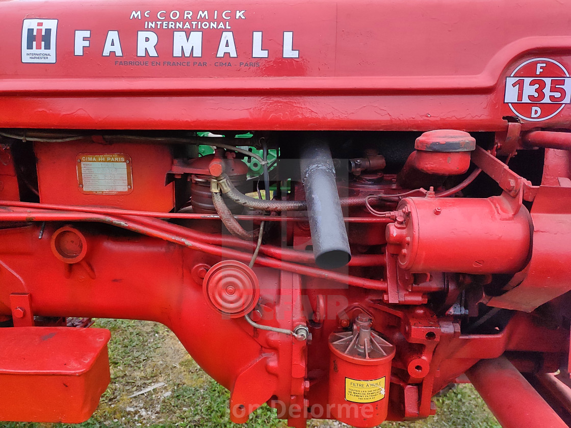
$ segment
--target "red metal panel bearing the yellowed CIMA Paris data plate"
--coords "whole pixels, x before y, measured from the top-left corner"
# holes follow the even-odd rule
[[[160,144],[35,143],[43,203],[169,212],[174,184],[170,148]]]

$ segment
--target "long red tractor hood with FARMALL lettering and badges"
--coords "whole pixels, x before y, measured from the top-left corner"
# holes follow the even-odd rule
[[[553,54],[571,47],[566,2],[74,6],[0,3],[3,127],[499,131],[504,116],[524,129],[571,117],[571,58]]]

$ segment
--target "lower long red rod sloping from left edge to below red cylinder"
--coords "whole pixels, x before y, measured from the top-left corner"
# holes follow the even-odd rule
[[[196,251],[215,256],[226,257],[228,259],[234,259],[248,263],[252,257],[250,254],[243,253],[241,251],[204,243],[203,241],[196,239],[194,236],[194,233],[196,232],[191,231],[190,229],[166,223],[166,221],[162,220],[144,219],[143,221],[143,217],[129,218],[119,216],[103,216],[95,213],[81,212],[16,210],[0,212],[0,221],[94,221],[98,223],[111,224],[116,227],[140,233],[142,235],[157,237],[175,244],[183,245],[184,247],[194,249]],[[341,282],[341,284],[353,285],[361,288],[380,291],[387,290],[386,281],[371,280],[368,278],[361,278],[339,272],[332,272],[331,270],[324,270],[295,263],[288,263],[286,261],[273,259],[271,257],[258,256],[256,259],[256,264],[274,269],[286,270],[288,272],[298,273],[300,275]]]

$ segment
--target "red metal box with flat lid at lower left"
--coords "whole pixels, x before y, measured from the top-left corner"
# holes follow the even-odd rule
[[[106,329],[0,329],[0,420],[78,423],[110,381]]]

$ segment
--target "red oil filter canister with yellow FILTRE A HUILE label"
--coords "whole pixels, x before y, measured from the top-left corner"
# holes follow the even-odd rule
[[[351,332],[329,335],[329,405],[338,421],[373,427],[387,418],[391,364],[395,346],[371,329],[361,314]]]

